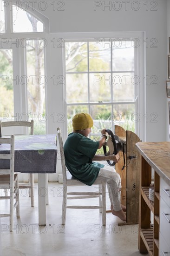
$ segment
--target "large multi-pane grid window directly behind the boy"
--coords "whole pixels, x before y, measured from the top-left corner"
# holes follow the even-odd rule
[[[136,57],[133,40],[65,42],[67,133],[78,112],[92,115],[93,139],[115,124],[137,133]]]

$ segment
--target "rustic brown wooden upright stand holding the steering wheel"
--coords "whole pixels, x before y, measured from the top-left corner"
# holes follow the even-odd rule
[[[123,152],[119,152],[120,161],[116,164],[116,172],[121,177],[122,192],[121,203],[126,206],[126,223],[138,223],[139,209],[139,179],[141,169],[141,155],[138,153],[135,144],[140,141],[139,137],[131,132],[125,131],[120,126],[115,126],[115,134],[124,142],[125,168]],[[136,156],[130,159],[129,157]],[[121,223],[120,223],[121,224]]]

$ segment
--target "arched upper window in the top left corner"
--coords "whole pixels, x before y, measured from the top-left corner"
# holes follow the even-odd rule
[[[0,0],[0,33],[32,32],[49,32],[48,19],[26,1]]]

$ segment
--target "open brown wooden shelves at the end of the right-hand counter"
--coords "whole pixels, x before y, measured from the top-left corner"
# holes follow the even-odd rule
[[[150,256],[157,256],[159,253],[159,201],[160,181],[154,171],[154,202],[149,199],[151,183],[151,168],[143,158],[141,186],[140,186],[140,222],[139,222],[139,251]],[[153,225],[151,225],[153,213]]]

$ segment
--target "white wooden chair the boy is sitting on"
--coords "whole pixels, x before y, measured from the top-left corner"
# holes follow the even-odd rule
[[[62,225],[65,225],[66,208],[70,209],[99,209],[102,213],[102,224],[106,224],[106,206],[105,206],[105,182],[102,181],[100,177],[96,179],[93,183],[99,185],[99,191],[97,192],[67,192],[67,186],[86,186],[84,183],[78,181],[76,178],[72,177],[70,172],[66,171],[65,167],[65,155],[63,150],[63,140],[61,136],[61,130],[57,128],[57,134],[59,138],[59,150],[62,164],[62,174],[63,174],[63,206],[62,206]],[[76,195],[67,197],[67,195]],[[84,199],[84,198],[96,198],[99,197],[99,206],[67,206],[67,199]]]

